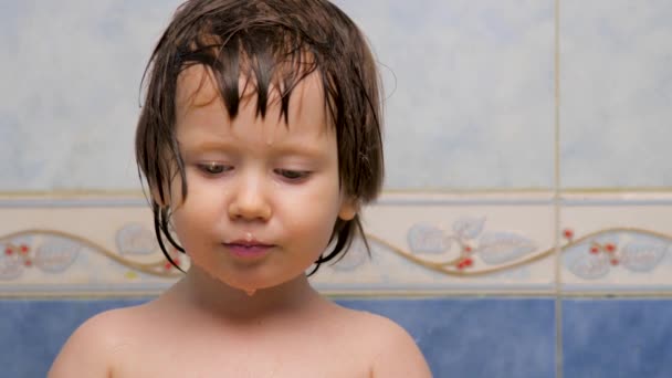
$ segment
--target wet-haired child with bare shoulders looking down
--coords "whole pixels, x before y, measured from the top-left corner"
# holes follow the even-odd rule
[[[84,323],[50,377],[430,377],[403,329],[305,274],[361,233],[382,181],[378,77],[353,21],[326,0],[187,1],[148,73],[138,165],[161,248],[191,266]]]

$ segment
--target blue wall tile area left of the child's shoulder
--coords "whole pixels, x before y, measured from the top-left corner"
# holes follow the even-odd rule
[[[0,301],[2,377],[43,378],[70,334],[86,318],[140,300]]]

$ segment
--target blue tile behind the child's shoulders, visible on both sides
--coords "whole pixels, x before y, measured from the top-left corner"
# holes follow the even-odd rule
[[[0,366],[44,377],[86,318],[141,300],[0,301]],[[338,300],[388,316],[418,342],[434,377],[554,377],[553,300]]]

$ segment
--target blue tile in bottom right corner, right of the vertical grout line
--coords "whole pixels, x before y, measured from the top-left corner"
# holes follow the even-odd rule
[[[563,339],[565,377],[672,377],[672,301],[564,301]]]

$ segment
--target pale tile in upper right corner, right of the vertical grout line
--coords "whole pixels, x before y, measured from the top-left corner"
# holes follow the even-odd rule
[[[560,6],[563,186],[672,186],[672,3]]]

